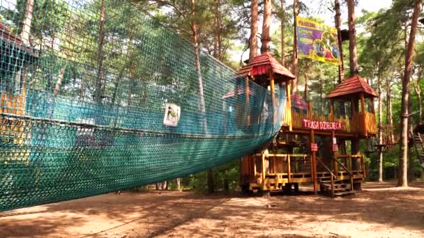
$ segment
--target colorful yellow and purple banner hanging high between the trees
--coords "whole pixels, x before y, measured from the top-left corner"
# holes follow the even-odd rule
[[[298,58],[340,65],[337,29],[302,17],[296,23]]]

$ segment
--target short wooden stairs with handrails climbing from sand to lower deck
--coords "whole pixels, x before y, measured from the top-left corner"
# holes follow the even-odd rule
[[[347,180],[340,180],[337,175],[333,173],[333,171],[328,168],[324,162],[317,157],[317,161],[326,168],[327,172],[330,174],[328,177],[318,177],[319,181],[319,187],[322,193],[326,193],[332,197],[337,196],[347,196],[347,195],[354,195],[354,175],[351,173],[351,171],[346,168],[344,164],[341,164],[340,161],[335,159],[342,168],[345,168],[345,170],[348,171],[350,181]]]

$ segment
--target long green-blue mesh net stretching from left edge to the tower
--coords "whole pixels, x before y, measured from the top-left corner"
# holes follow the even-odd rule
[[[189,175],[278,132],[269,91],[206,54],[202,110],[193,45],[126,1],[0,3],[0,210]]]

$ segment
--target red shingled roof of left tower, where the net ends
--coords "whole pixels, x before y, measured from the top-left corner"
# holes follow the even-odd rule
[[[287,70],[284,66],[278,63],[277,60],[271,54],[265,53],[260,56],[255,56],[252,60],[237,72],[239,75],[245,76],[257,76],[262,74],[268,74],[272,70],[275,76],[280,76],[280,79],[292,80],[295,79],[294,75]]]

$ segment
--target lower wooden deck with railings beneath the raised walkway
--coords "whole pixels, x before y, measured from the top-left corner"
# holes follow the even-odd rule
[[[357,160],[360,162],[358,163]],[[342,166],[333,166],[332,172],[318,166],[317,177],[312,176],[312,157],[308,154],[252,154],[241,160],[241,184],[250,191],[281,190],[286,184],[313,183],[320,177],[337,175],[338,180],[352,180],[361,183],[365,179],[362,155],[338,157]],[[328,161],[328,167],[334,164]],[[355,169],[351,169],[355,164]],[[246,186],[248,184],[248,187]]]

